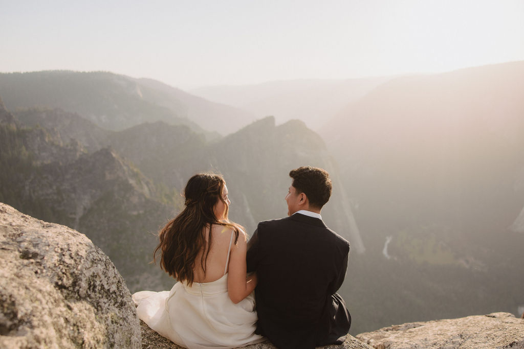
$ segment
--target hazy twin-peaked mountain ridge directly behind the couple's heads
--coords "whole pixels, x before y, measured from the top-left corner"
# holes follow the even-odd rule
[[[324,210],[326,222],[352,241],[356,253],[365,251],[333,159],[324,141],[301,121],[276,126],[275,119],[267,117],[213,142],[182,126],[158,122],[116,132],[108,144],[168,188],[182,190],[196,172],[222,173],[233,202],[231,217],[249,232],[260,220],[286,215],[283,197],[292,168],[326,168],[337,186]]]

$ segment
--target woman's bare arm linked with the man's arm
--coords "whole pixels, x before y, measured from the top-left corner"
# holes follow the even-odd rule
[[[256,274],[246,276],[247,235],[238,234],[238,242],[231,246],[230,263],[227,275],[227,292],[233,303],[243,300],[257,286]]]

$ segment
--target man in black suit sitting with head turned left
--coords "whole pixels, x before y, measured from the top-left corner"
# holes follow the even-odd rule
[[[344,281],[350,243],[320,216],[331,179],[310,166],[289,176],[289,217],[258,223],[248,244],[247,271],[258,275],[256,333],[279,348],[341,344],[351,316],[335,292]]]

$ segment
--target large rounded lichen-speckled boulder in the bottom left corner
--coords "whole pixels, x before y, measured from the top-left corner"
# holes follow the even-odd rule
[[[0,203],[0,263],[0,347],[140,347],[129,290],[85,235]]]

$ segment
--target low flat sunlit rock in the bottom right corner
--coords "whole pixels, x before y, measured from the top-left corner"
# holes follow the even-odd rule
[[[365,332],[357,338],[377,349],[524,348],[524,319],[510,313],[411,322]]]

